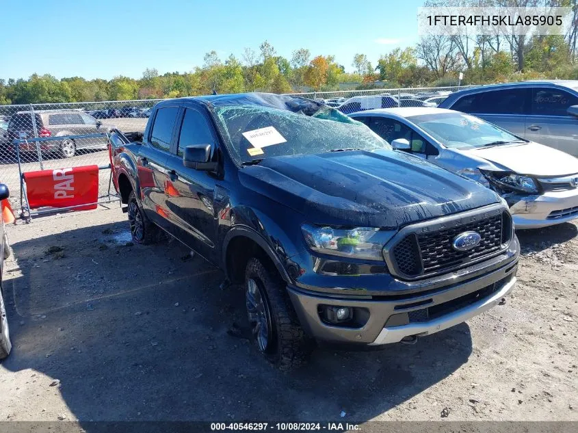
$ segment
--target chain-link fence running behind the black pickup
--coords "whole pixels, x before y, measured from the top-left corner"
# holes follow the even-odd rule
[[[373,108],[435,107],[459,89],[345,90],[294,95],[321,101],[351,114]],[[0,105],[0,182],[10,188],[14,209],[21,209],[21,172],[108,164],[107,131],[116,128],[123,132],[143,132],[150,111],[158,101]],[[110,170],[101,170],[100,197],[111,192],[109,178]]]

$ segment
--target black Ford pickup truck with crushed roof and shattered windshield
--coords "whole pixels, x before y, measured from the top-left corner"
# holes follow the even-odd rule
[[[160,229],[242,285],[259,351],[413,343],[497,304],[519,244],[490,189],[322,103],[234,94],[157,103],[111,135],[135,242]]]

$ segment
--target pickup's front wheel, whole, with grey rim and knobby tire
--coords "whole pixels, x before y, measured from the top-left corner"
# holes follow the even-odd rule
[[[283,280],[257,258],[247,263],[245,301],[259,352],[282,370],[302,365],[313,349],[313,341],[298,322]]]

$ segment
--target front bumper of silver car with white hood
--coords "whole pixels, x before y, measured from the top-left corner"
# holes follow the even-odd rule
[[[510,207],[516,228],[540,228],[578,218],[578,188],[522,196]]]

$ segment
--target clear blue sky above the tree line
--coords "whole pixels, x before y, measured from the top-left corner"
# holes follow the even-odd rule
[[[268,40],[278,55],[307,48],[352,71],[355,53],[372,64],[417,42],[423,0],[4,0],[0,78],[49,73],[139,78],[145,68],[184,72],[207,51],[239,59]],[[31,12],[34,11],[34,14]]]

